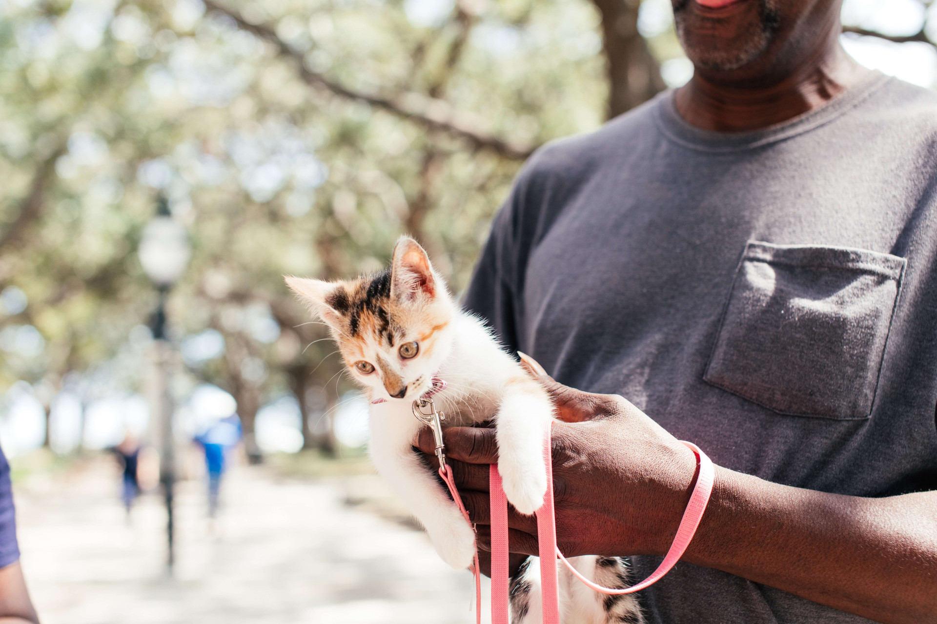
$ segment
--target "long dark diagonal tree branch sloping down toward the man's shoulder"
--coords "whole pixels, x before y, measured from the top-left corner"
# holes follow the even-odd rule
[[[444,100],[415,92],[365,94],[349,89],[335,80],[309,69],[304,63],[303,54],[292,50],[285,41],[276,36],[273,29],[247,22],[239,14],[230,8],[222,7],[215,0],[203,1],[206,7],[231,17],[241,29],[273,43],[281,56],[296,62],[300,75],[310,86],[324,88],[332,94],[350,100],[367,102],[373,107],[387,110],[399,117],[420,123],[426,128],[440,130],[451,136],[462,138],[475,149],[491,150],[511,160],[524,160],[535,149],[535,146],[521,145],[492,136],[480,127],[477,120],[472,119],[474,117],[472,113],[454,109],[451,104]]]

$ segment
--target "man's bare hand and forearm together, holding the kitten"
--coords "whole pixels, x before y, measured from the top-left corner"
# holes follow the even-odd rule
[[[568,557],[663,555],[690,499],[692,451],[621,397],[541,381],[563,421],[553,427],[560,550]],[[487,549],[494,430],[448,428],[444,439]],[[435,468],[428,429],[416,444]],[[509,508],[508,526],[512,551],[536,555],[535,518]],[[937,492],[865,499],[717,466],[706,515],[683,560],[889,624],[937,623]]]

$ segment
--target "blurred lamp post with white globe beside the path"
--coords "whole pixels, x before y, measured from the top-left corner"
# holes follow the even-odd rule
[[[153,338],[156,351],[156,419],[159,425],[159,482],[166,498],[167,564],[174,563],[172,544],[172,489],[175,485],[175,453],[172,436],[172,398],[169,387],[171,344],[166,335],[166,296],[172,284],[186,272],[192,249],[186,228],[172,220],[166,198],[159,196],[156,216],[143,228],[140,240],[140,264],[159,291],[159,303],[153,315]]]

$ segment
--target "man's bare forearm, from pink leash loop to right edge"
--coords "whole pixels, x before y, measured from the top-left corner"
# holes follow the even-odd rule
[[[884,499],[717,468],[684,559],[881,622],[937,622],[937,492]]]

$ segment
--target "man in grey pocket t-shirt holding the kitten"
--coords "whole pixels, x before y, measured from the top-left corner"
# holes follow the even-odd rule
[[[692,80],[533,156],[466,297],[565,384],[559,546],[646,577],[688,440],[716,485],[648,621],[937,622],[937,96],[842,51],[838,0],[674,12]],[[494,436],[446,442],[486,547]]]

